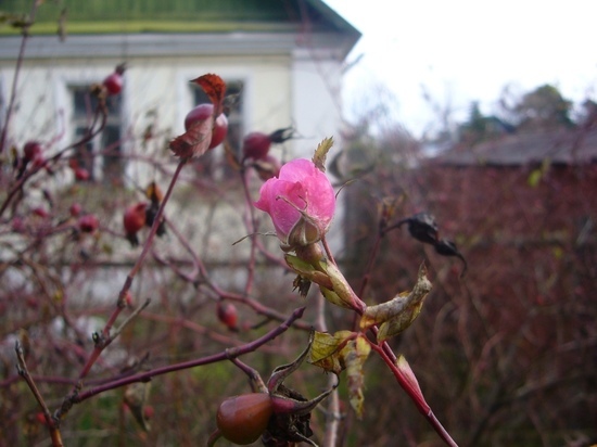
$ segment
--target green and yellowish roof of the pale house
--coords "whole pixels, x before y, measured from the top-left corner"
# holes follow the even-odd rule
[[[356,33],[319,0],[46,0],[31,34],[53,34],[63,10],[68,34],[282,31],[301,29],[308,17],[313,30]],[[2,0],[0,11],[27,14],[31,0]],[[17,29],[1,26],[1,34]]]

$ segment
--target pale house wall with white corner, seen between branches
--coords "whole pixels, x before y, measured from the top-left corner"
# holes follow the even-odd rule
[[[39,140],[48,146],[48,153],[67,146],[73,141],[74,131],[69,122],[73,105],[68,86],[101,82],[123,61],[127,63],[122,93],[123,149],[129,159],[138,161],[126,164],[125,184],[129,190],[144,188],[152,180],[156,180],[162,189],[167,186],[176,164],[176,158],[166,149],[167,142],[183,132],[183,118],[193,106],[189,81],[205,73],[242,80],[245,132],[270,132],[289,126],[297,130],[297,139],[272,148],[272,154],[281,159],[289,161],[296,156],[310,158],[323,138],[333,136],[339,140],[341,63],[335,58],[306,50],[201,56],[151,56],[137,50],[135,55],[127,56],[125,40],[118,47],[113,37],[97,38],[99,41],[96,46],[85,41],[85,48],[101,49],[102,39],[112,39],[106,43],[112,46],[110,52],[120,52],[122,55],[109,58],[89,50],[89,54],[52,56],[52,52],[43,46],[34,47],[36,58],[25,59],[20,75],[17,102],[10,125],[10,143],[22,148],[27,140]],[[4,99],[10,94],[14,66],[14,60],[0,58],[0,88]],[[147,143],[142,137],[149,125],[153,125],[155,138]],[[223,149],[217,148],[214,155],[221,162]],[[162,167],[147,163],[153,156],[161,161]],[[193,200],[189,201],[187,197],[192,190],[188,186],[194,178],[190,168],[186,168],[183,174],[167,209],[168,218],[176,219],[194,246],[201,246],[200,252],[208,256],[207,260],[242,261],[249,255],[249,244],[231,247],[233,241],[246,235],[241,192],[220,187],[212,191],[215,201],[207,196],[192,196]],[[62,169],[51,180],[64,189],[73,183],[73,173],[71,169]],[[259,182],[254,186],[258,188]],[[98,192],[94,190],[90,193]],[[41,203],[43,197],[39,196],[38,200]],[[130,199],[123,197],[123,203],[114,204],[116,213],[101,216],[102,225],[118,231],[122,226],[119,209],[124,209],[127,200]],[[334,229],[330,232],[332,246],[341,245],[341,206],[338,216]],[[269,230],[267,219],[263,221],[262,230]],[[272,242],[275,247],[276,242]],[[168,243],[164,245],[164,250],[168,250]],[[115,257],[136,256],[126,244],[113,250]]]

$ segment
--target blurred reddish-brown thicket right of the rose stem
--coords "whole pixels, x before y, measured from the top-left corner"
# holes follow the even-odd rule
[[[429,268],[425,305],[392,346],[412,362],[434,410],[449,414],[460,445],[585,446],[597,437],[595,184],[595,163],[450,167],[440,158],[405,170],[385,158],[345,190],[350,280],[361,284],[369,273],[368,304],[412,283],[418,261]],[[455,241],[466,276],[457,258],[447,263],[415,242],[406,226],[388,231],[389,207],[398,216],[433,213],[437,225],[423,234]],[[399,420],[380,409],[364,422],[425,438],[427,427],[384,389],[368,383],[367,399],[385,399]]]

